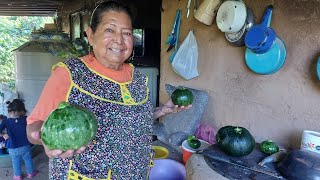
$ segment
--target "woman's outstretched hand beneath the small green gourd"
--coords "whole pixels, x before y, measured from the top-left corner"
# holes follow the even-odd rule
[[[187,109],[190,109],[191,107],[192,107],[191,104],[188,106],[174,105],[172,100],[169,99],[163,106],[155,108],[154,119],[157,119],[167,114],[177,113],[183,110],[187,110]]]

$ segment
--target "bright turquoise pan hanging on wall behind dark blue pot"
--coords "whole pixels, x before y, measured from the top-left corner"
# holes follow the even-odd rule
[[[283,66],[286,55],[285,44],[277,37],[272,48],[266,53],[257,54],[247,48],[245,61],[249,69],[257,74],[273,74]]]

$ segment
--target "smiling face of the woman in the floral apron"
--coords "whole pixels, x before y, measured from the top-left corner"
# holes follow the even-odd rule
[[[95,57],[104,66],[117,69],[132,53],[132,23],[124,12],[103,13],[96,32],[89,27],[87,34]]]

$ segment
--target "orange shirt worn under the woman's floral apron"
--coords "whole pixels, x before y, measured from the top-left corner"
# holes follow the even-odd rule
[[[121,70],[116,71],[103,66],[93,55],[85,56],[82,60],[90,69],[119,83],[132,79],[132,66],[129,64],[124,64]],[[71,79],[67,69],[64,67],[55,68],[47,80],[35,108],[28,116],[27,124],[45,121],[61,101],[67,100],[70,86]]]

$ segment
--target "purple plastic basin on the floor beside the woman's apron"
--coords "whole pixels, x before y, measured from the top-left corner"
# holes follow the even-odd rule
[[[153,160],[149,180],[185,180],[186,169],[183,164],[172,159]]]

